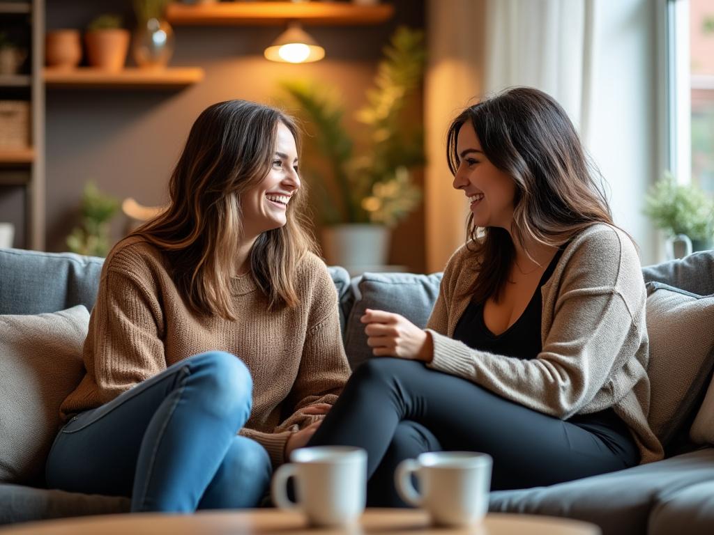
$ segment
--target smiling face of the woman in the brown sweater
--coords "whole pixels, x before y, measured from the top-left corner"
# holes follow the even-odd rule
[[[300,189],[298,151],[290,129],[278,123],[271,168],[263,180],[241,195],[245,238],[256,238],[266,230],[280,228],[288,221],[292,196]]]

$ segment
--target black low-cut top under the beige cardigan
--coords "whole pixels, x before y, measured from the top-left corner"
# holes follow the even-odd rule
[[[483,303],[471,301],[456,324],[456,329],[453,332],[454,339],[461,340],[474,350],[488,351],[494,355],[506,355],[528,360],[538,357],[538,353],[543,349],[543,343],[540,340],[543,296],[540,293],[540,288],[545,282],[548,282],[550,275],[553,275],[555,265],[563,255],[566,245],[563,245],[558,253],[555,253],[553,260],[550,260],[526,310],[523,310],[521,317],[518,317],[511,327],[498,336],[494,335],[483,321]],[[622,452],[631,449],[632,434],[613,409],[605,409],[592,414],[575,414],[568,419],[568,422],[595,434],[605,443],[606,447],[614,452],[623,454]]]

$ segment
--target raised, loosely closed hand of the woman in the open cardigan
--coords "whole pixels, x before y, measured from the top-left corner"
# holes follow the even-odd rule
[[[366,323],[367,345],[378,357],[433,360],[431,335],[406,317],[383,310],[367,309],[360,321]]]

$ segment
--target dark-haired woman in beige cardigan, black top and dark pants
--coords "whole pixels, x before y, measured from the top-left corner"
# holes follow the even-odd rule
[[[367,310],[379,357],[310,444],[368,452],[368,503],[403,505],[393,472],[427,451],[493,457],[493,489],[660,459],[647,422],[645,286],[568,116],[533,88],[466,108],[447,141],[471,210],[426,330]]]

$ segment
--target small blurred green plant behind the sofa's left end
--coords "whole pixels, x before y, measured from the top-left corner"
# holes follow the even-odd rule
[[[109,253],[109,223],[119,210],[119,201],[101,193],[94,183],[84,186],[81,225],[67,236],[67,247],[78,255],[106,256]]]

